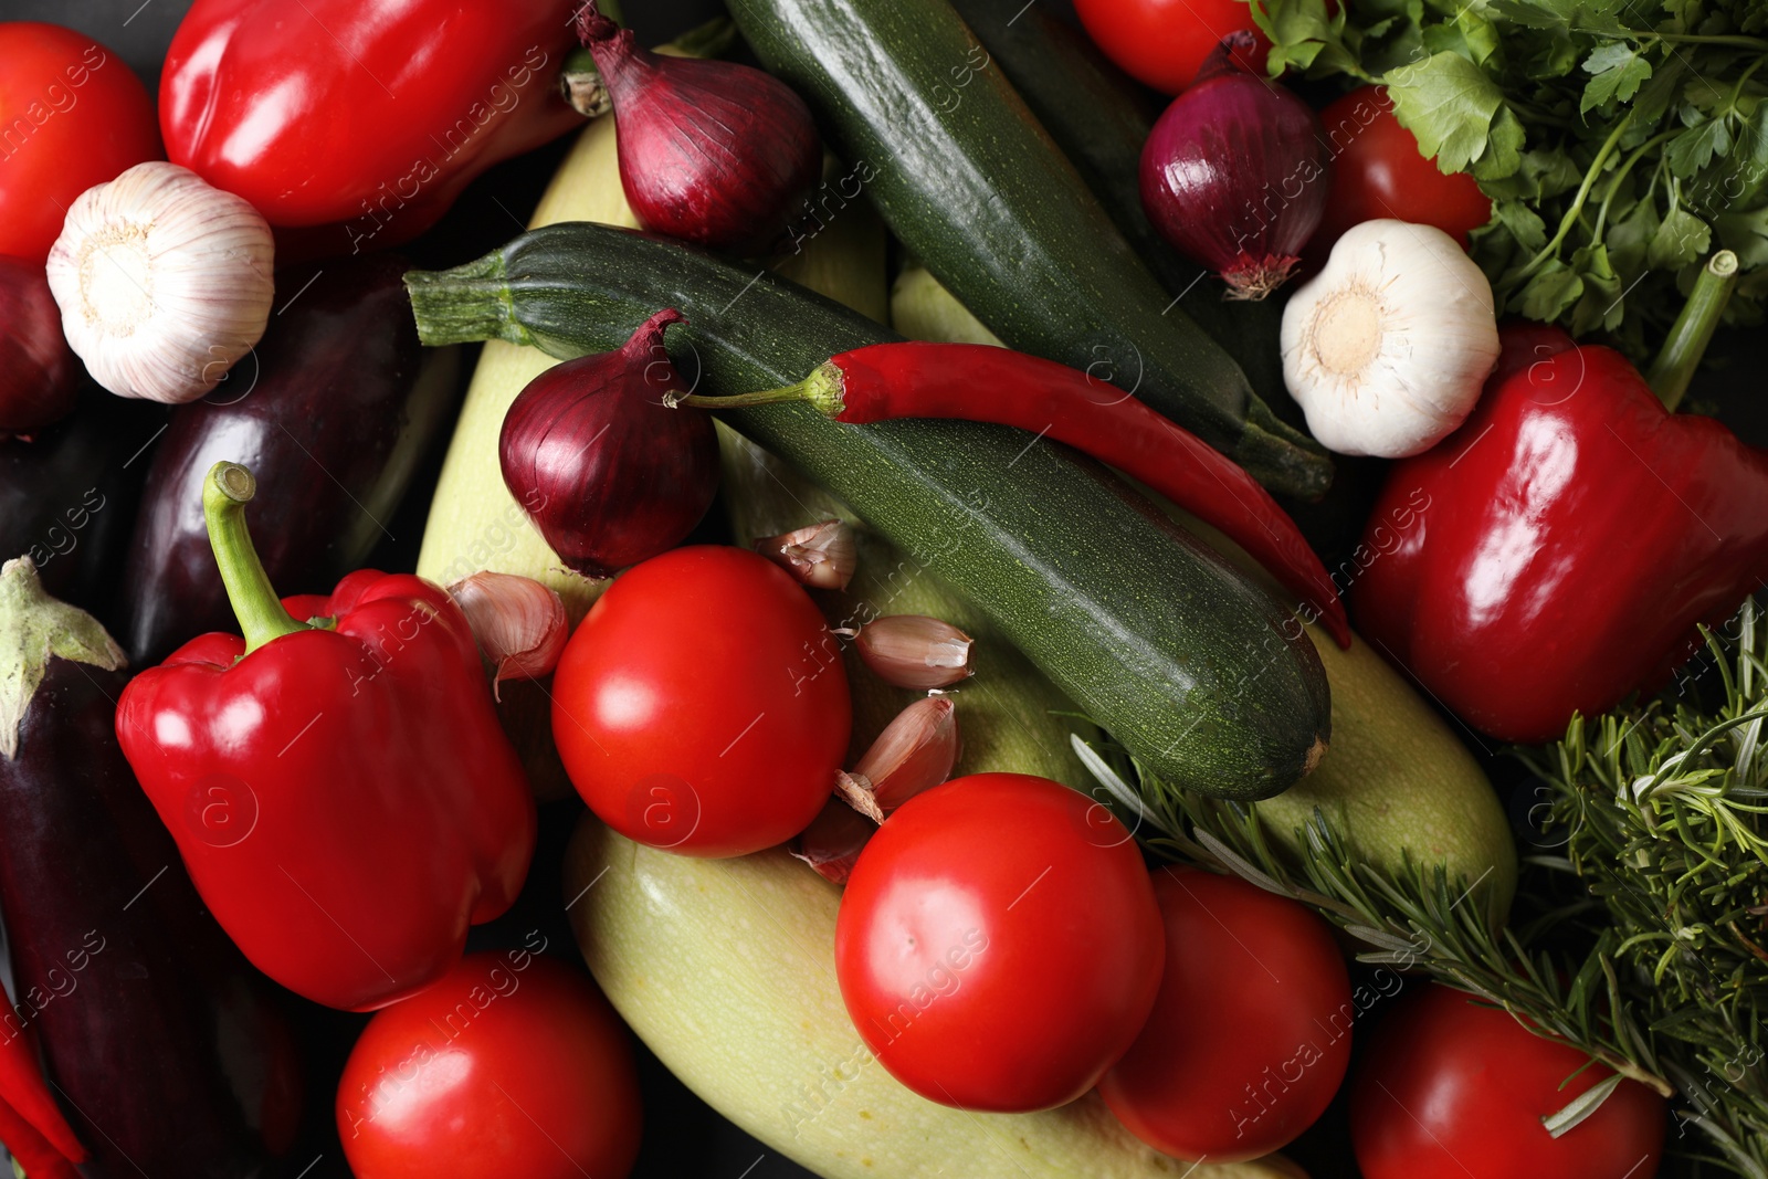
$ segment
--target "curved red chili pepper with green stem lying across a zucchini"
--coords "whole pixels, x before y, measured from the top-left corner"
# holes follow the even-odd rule
[[[852,424],[955,417],[1066,442],[1225,532],[1317,612],[1340,647],[1351,645],[1337,587],[1269,491],[1197,435],[1066,364],[990,345],[870,345],[829,357],[797,385],[688,396],[679,405],[716,410],[773,401],[808,401]]]

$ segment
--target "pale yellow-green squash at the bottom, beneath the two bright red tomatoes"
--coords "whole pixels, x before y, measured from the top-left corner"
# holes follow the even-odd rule
[[[714,1110],[826,1179],[1303,1175],[1280,1156],[1231,1167],[1167,1158],[1119,1126],[1098,1094],[1004,1115],[909,1092],[872,1059],[842,1006],[840,893],[780,848],[690,859],[585,817],[566,852],[566,900],[591,972],[658,1059]]]

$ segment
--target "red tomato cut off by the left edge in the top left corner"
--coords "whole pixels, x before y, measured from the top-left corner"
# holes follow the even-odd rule
[[[42,263],[74,198],[159,159],[141,80],[60,25],[0,25],[0,255]]]

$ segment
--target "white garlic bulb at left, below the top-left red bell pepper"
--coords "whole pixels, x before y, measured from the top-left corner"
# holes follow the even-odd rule
[[[164,161],[81,193],[48,269],[69,346],[124,398],[194,401],[271,320],[271,226]]]

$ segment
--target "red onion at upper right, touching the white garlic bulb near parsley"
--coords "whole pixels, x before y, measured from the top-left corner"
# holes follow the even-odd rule
[[[1331,193],[1319,117],[1234,64],[1236,49],[1252,48],[1248,32],[1223,37],[1142,147],[1147,219],[1227,279],[1231,299],[1284,285]]]

